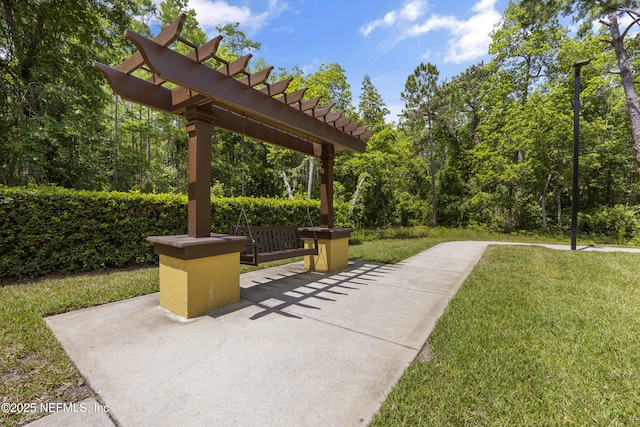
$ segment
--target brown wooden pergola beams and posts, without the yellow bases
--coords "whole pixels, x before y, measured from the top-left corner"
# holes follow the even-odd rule
[[[217,126],[295,150],[321,160],[320,226],[333,228],[333,159],[338,151],[363,152],[373,134],[333,105],[319,106],[320,97],[303,99],[307,89],[286,93],[291,79],[267,83],[273,67],[247,72],[252,55],[233,62],[216,52],[222,36],[195,46],[180,36],[186,15],[179,16],[154,40],[132,31],[126,38],[138,48],[116,67],[94,62],[122,98],[187,119],[189,133],[189,222],[191,237],[210,233],[211,135]],[[175,41],[193,50],[182,55],[169,48]],[[204,62],[213,59],[222,67]],[[151,76],[140,78],[138,69]],[[165,84],[172,83],[172,89]]]

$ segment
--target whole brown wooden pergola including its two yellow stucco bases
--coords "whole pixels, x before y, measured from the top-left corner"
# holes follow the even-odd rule
[[[94,62],[122,98],[184,116],[189,134],[189,205],[186,236],[151,236],[160,255],[160,305],[184,317],[239,301],[240,263],[246,237],[211,233],[211,138],[217,126],[241,135],[320,158],[320,227],[307,229],[319,241],[318,255],[305,267],[335,271],[348,264],[350,229],[333,224],[335,153],[363,152],[373,134],[366,126],[307,89],[287,93],[291,79],[267,82],[273,67],[247,71],[251,55],[226,61],[217,55],[222,36],[196,46],[180,36],[179,16],[153,40],[125,31],[136,52],[111,67]],[[192,50],[180,54],[174,42]],[[217,63],[218,69],[207,65]],[[220,66],[221,64],[221,66]],[[136,72],[144,70],[146,73]]]

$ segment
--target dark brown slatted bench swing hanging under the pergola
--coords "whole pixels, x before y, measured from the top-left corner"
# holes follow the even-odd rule
[[[231,226],[231,233],[234,236],[249,238],[244,252],[240,253],[240,264],[258,265],[263,262],[318,255],[318,239],[301,237],[295,225]],[[313,240],[313,247],[305,248],[305,240]]]

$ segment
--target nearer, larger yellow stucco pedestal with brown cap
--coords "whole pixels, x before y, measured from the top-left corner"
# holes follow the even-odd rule
[[[240,251],[246,238],[152,236],[160,255],[160,306],[185,318],[240,301]]]

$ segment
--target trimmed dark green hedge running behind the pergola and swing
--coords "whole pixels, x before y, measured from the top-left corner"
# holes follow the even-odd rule
[[[251,225],[319,222],[318,201],[220,198],[212,231],[228,233],[242,206]],[[337,206],[336,224],[347,213]],[[155,262],[146,237],[186,234],[187,197],[0,186],[0,218],[0,278],[36,277]]]

